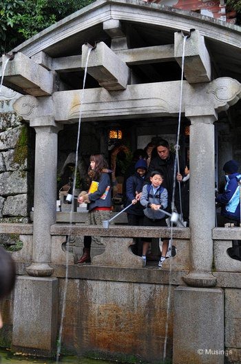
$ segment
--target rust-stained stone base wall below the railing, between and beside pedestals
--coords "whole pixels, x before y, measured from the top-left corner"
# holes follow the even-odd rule
[[[169,289],[167,271],[148,269],[147,274],[147,269],[112,269],[111,272],[107,267],[85,266],[70,272],[63,353],[115,358],[120,362],[124,358],[126,361],[135,358],[138,363],[162,361]],[[82,278],[77,278],[80,275]],[[177,272],[173,278],[167,358],[172,356],[174,289],[182,282]],[[64,279],[59,278],[59,325],[64,285]],[[224,363],[240,363],[240,289],[224,288],[224,299],[225,310],[220,312],[225,323]],[[12,340],[12,303],[11,296],[1,303],[4,327],[0,346],[3,347],[10,347]],[[29,337],[28,342],[31,343]]]

